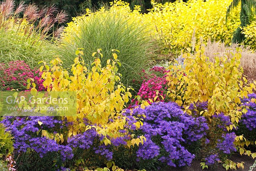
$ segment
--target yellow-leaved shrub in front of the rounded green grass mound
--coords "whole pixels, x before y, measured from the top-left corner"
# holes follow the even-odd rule
[[[122,110],[132,97],[129,92],[131,88],[119,83],[120,74],[117,73],[116,65],[120,62],[116,53],[113,53],[114,59],[109,59],[107,65],[102,67],[100,62],[102,54],[98,49],[92,54],[95,60],[91,64],[91,69],[84,64],[81,48],[76,50],[76,55],[78,56],[71,66],[72,74],[62,68],[62,61],[58,57],[51,61],[51,66],[44,62],[40,67],[43,71],[43,85],[47,87],[47,91],[72,91],[77,94],[76,116],[67,116],[68,121],[74,123],[69,128],[68,137],[95,127],[98,134],[105,137],[102,143],[111,144],[109,138],[123,136],[119,130],[127,129],[129,119],[122,114]],[[85,125],[84,119],[88,120],[91,126]],[[134,124],[138,129],[142,122],[138,119]],[[127,142],[128,147],[143,143],[143,138],[141,136],[134,139],[131,136]]]

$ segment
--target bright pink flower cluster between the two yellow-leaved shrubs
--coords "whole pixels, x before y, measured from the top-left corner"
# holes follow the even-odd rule
[[[166,71],[164,67],[155,66],[151,68],[149,72],[151,72],[151,74],[146,73],[145,70],[142,71],[142,73],[144,73],[142,78],[144,79],[138,95],[142,100],[147,100],[149,103],[149,99],[153,101],[165,101],[168,89],[165,73],[169,71]],[[154,100],[156,96],[158,97]],[[132,100],[132,102],[134,102],[134,100]],[[137,105],[138,101],[135,101],[135,104]]]

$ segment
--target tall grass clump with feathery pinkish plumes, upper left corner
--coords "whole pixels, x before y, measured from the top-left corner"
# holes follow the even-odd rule
[[[23,60],[36,66],[41,60],[53,56],[55,38],[63,27],[53,29],[67,18],[55,6],[38,8],[35,4],[18,4],[14,0],[0,3],[0,63]]]

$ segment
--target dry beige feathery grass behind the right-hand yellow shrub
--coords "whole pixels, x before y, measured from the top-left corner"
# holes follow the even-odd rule
[[[225,46],[224,43],[216,41],[208,41],[205,47],[204,54],[213,60],[215,56],[223,56],[229,53],[236,53],[237,48],[241,50],[241,66],[244,69],[244,76],[247,77],[248,82],[256,80],[256,53],[253,53],[249,48],[245,48],[243,45],[233,44],[231,46]]]

